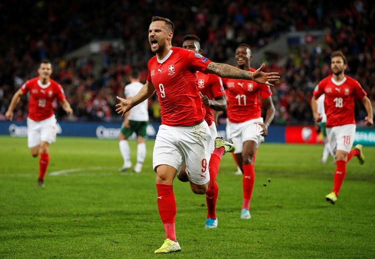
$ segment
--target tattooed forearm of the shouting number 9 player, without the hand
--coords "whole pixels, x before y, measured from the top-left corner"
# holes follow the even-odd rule
[[[207,68],[205,69],[205,72],[209,74],[215,74],[223,78],[252,80],[251,72],[222,63],[209,63]]]

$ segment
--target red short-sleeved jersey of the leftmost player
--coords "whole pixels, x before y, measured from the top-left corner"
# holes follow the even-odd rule
[[[21,86],[22,93],[30,92],[28,99],[28,117],[34,121],[41,121],[51,117],[53,113],[53,101],[65,99],[64,90],[54,80],[42,85],[39,77],[32,78]]]

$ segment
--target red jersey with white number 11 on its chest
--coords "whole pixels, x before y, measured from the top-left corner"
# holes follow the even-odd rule
[[[253,72],[255,69],[250,68]],[[261,117],[261,98],[272,95],[269,86],[251,80],[222,78],[226,94],[226,116],[232,123],[245,122]]]

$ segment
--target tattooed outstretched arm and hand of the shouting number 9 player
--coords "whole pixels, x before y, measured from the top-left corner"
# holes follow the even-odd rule
[[[205,69],[205,73],[215,74],[223,78],[252,80],[256,83],[273,86],[273,84],[271,84],[270,82],[278,81],[280,79],[280,76],[277,72],[264,73],[262,71],[264,66],[265,65],[262,64],[256,71],[250,72],[235,68],[228,64],[211,62]]]

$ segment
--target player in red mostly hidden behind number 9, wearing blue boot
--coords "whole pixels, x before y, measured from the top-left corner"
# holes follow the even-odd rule
[[[200,49],[200,39],[195,35],[186,35],[183,37],[182,48],[192,50],[196,53],[202,54]],[[214,139],[217,137],[216,123],[213,116],[213,110],[224,111],[226,109],[225,90],[222,87],[221,79],[213,74],[204,74],[197,72],[197,81],[199,94],[202,98],[205,116],[204,120],[207,122],[211,132],[212,142],[209,146],[210,153],[214,149]],[[177,175],[178,179],[184,181],[187,178],[185,168]],[[210,189],[205,194],[207,204],[207,216],[204,227],[215,228],[217,227],[216,217],[216,201],[218,194],[218,185],[216,181],[213,182]]]

